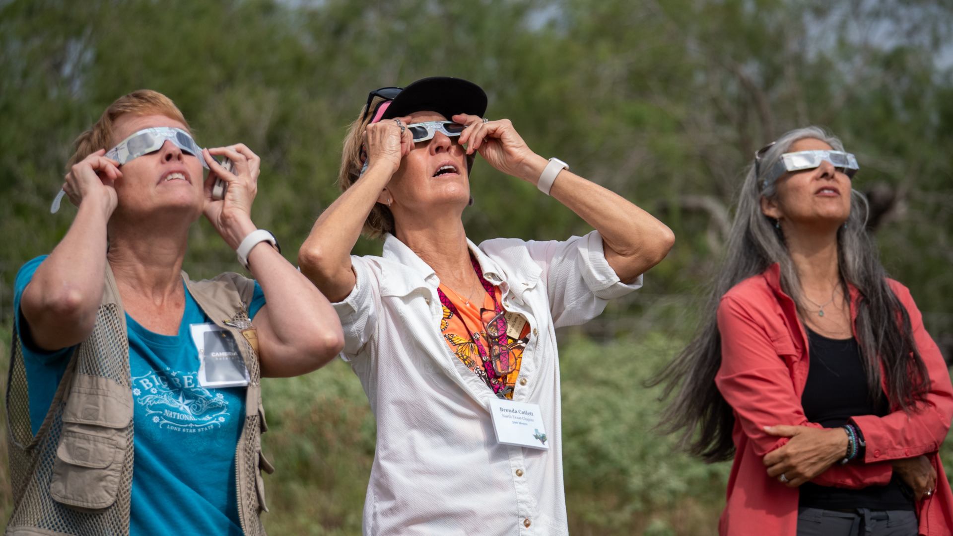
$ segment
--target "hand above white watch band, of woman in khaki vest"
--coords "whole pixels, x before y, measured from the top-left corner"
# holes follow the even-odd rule
[[[232,160],[234,173],[229,173],[213,155]],[[202,156],[212,172],[205,180],[203,212],[218,234],[225,238],[232,249],[236,249],[241,240],[254,231],[252,202],[258,193],[258,167],[261,159],[242,143],[203,149]],[[228,183],[224,199],[214,199],[212,196],[215,177]]]

